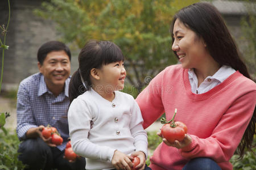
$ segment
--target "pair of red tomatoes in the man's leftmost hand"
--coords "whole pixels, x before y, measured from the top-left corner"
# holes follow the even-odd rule
[[[48,139],[52,137],[51,143],[54,145],[61,145],[63,142],[63,138],[61,138],[59,132],[56,128],[47,126],[42,130],[42,135],[44,138]]]

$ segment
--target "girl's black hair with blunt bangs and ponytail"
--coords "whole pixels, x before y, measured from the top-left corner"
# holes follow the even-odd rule
[[[72,102],[77,96],[90,90],[90,70],[100,69],[101,66],[112,62],[124,61],[122,50],[110,41],[89,40],[79,54],[79,69],[73,73],[70,83],[68,96]],[[81,81],[84,79],[84,84]],[[84,87],[84,85],[86,87]]]

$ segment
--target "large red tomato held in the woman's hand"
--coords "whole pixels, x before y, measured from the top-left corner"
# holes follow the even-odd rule
[[[171,124],[164,124],[161,133],[168,142],[174,143],[175,140],[182,141],[187,133],[187,126],[182,122],[175,122],[176,127],[172,128]]]

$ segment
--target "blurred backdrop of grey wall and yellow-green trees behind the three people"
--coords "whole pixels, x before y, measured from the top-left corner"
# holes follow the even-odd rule
[[[126,57],[125,92],[138,95],[166,66],[177,63],[171,50],[170,24],[177,10],[196,0],[12,0],[3,66],[2,91],[38,72],[36,54],[46,41],[60,40],[72,51],[72,71],[89,39],[110,40]],[[209,1],[221,12],[251,76],[256,80],[255,1]],[[0,1],[0,24],[8,18]]]

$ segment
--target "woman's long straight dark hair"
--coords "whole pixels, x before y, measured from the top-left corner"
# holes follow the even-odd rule
[[[241,54],[230,35],[224,19],[216,7],[207,2],[199,2],[182,8],[175,14],[171,24],[172,44],[174,44],[174,23],[179,19],[185,27],[191,29],[198,37],[203,38],[210,56],[220,65],[228,65],[240,71],[241,74],[250,78],[245,63],[241,60]],[[176,52],[174,51],[177,56]],[[246,149],[251,150],[253,136],[255,134],[255,111],[245,133],[243,134],[238,154],[240,158]]]

